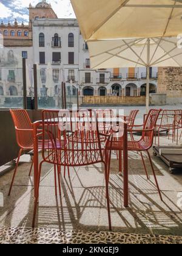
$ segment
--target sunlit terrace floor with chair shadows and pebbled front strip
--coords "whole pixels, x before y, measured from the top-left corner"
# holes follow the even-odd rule
[[[166,137],[161,142],[171,144]],[[124,208],[123,177],[118,175],[118,160],[112,155],[112,232],[108,232],[103,166],[72,168],[70,179],[61,174],[62,194],[56,197],[53,166],[46,163],[37,229],[32,230],[33,177],[28,176],[30,157],[22,156],[10,197],[7,194],[14,166],[0,177],[0,243],[182,243],[182,171],[170,174],[159,157],[152,157],[163,193],[161,202],[147,157],[145,160],[150,181],[140,155],[129,153],[130,205]]]

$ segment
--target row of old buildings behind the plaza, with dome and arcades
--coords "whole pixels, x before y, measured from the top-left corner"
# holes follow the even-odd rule
[[[38,66],[38,96],[52,98],[52,106],[58,104],[61,81],[66,82],[67,95],[80,96],[145,96],[146,68],[90,68],[89,49],[79,31],[76,19],[59,19],[50,4],[45,0],[35,7],[29,5],[29,25],[3,22],[0,35],[4,38],[5,51],[12,55],[27,59],[27,77],[29,79],[28,94],[32,84],[32,67]],[[2,51],[1,51],[2,55]],[[0,55],[0,60],[3,57]],[[16,62],[16,65],[19,65]],[[8,84],[8,62],[0,62],[0,94],[10,93],[12,84]],[[16,68],[15,65],[15,68]],[[11,73],[12,71],[10,71]],[[16,72],[15,72],[16,73]],[[13,74],[13,72],[11,73]],[[13,75],[12,75],[13,76]],[[5,78],[6,77],[6,78]],[[13,86],[19,90],[15,82]],[[150,69],[150,93],[157,92],[158,69]],[[4,85],[2,85],[4,80]],[[19,80],[20,77],[19,77]],[[6,82],[5,82],[6,81]],[[19,82],[20,83],[20,82]],[[2,88],[1,88],[2,87]],[[3,89],[3,90],[2,90]],[[11,94],[11,93],[10,93]],[[45,100],[44,99],[44,100]]]

